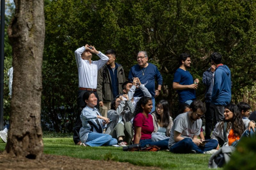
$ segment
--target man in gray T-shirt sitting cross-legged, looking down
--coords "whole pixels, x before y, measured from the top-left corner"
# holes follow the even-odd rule
[[[210,139],[207,143],[204,139],[198,139],[202,127],[201,116],[206,108],[200,100],[195,100],[190,105],[190,111],[178,115],[171,130],[169,149],[174,153],[214,153],[218,142]],[[204,143],[204,144],[203,144]]]

